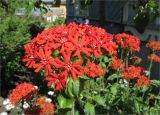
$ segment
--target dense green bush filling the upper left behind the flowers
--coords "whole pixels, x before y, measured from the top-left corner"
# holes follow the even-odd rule
[[[52,24],[39,17],[31,16],[31,11],[40,6],[39,0],[0,1],[0,52],[1,52],[1,86],[2,92],[12,88],[17,82],[29,80],[26,77],[26,68],[21,63],[23,45],[32,39],[45,27],[61,25],[64,19],[57,19]],[[16,12],[24,8],[24,14],[17,16]],[[43,11],[43,10],[41,10]],[[18,78],[17,78],[18,77]],[[5,91],[3,91],[3,89]],[[3,95],[3,94],[2,94]]]

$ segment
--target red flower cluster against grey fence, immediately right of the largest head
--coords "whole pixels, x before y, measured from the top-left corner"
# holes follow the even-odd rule
[[[129,35],[126,33],[121,33],[115,35],[115,39],[117,44],[120,45],[121,48],[129,48],[130,51],[139,51],[140,50],[140,39],[136,36]]]

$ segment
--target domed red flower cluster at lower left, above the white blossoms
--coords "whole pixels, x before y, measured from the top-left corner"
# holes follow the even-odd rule
[[[9,94],[9,100],[13,105],[16,105],[21,100],[30,100],[32,95],[37,95],[38,91],[34,85],[29,83],[22,83]]]

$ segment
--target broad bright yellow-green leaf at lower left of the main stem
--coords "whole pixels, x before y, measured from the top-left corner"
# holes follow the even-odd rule
[[[64,96],[60,94],[58,95],[57,99],[58,99],[58,104],[61,109],[71,109],[72,108],[73,103],[74,103],[73,98],[65,98]]]

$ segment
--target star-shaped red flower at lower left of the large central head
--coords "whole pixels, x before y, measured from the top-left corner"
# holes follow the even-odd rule
[[[36,68],[35,72],[38,72],[40,69],[45,67],[46,75],[49,75],[49,73],[52,73],[51,64],[54,62],[54,59],[51,58],[51,50],[48,50],[46,47],[40,48],[39,51],[36,52],[38,61],[34,68]]]

